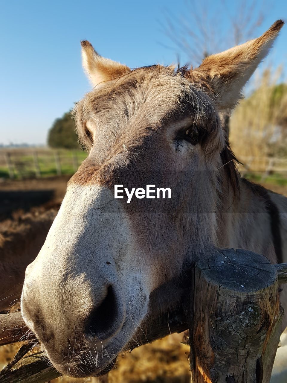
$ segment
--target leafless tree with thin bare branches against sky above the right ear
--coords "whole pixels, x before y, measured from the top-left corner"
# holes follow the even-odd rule
[[[178,17],[166,13],[164,33],[179,52],[185,52],[192,65],[199,65],[210,54],[245,43],[261,33],[266,10],[264,2],[241,0],[232,6],[220,0],[188,0]],[[222,27],[224,26],[224,28]],[[258,36],[257,36],[258,34]]]

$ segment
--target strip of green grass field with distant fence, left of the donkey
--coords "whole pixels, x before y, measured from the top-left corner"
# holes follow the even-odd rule
[[[87,155],[81,150],[3,149],[0,151],[0,178],[73,174]]]

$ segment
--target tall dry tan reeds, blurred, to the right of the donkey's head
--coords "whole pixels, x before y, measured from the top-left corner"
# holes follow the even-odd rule
[[[280,73],[278,69],[272,76],[267,69],[259,75],[256,90],[240,102],[230,120],[232,149],[247,170],[267,170],[284,141],[287,92],[276,93]]]

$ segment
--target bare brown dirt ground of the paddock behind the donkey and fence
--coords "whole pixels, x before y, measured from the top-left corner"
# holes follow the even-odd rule
[[[27,219],[41,218],[41,214],[44,216],[47,211],[53,211],[52,214],[55,214],[65,195],[68,178],[63,176],[0,182],[0,236],[1,232],[5,230],[7,232],[9,228],[15,231],[21,225],[25,226]],[[287,195],[286,187],[273,184],[264,186]],[[189,347],[180,342],[182,339],[182,334],[173,334],[121,355],[117,361],[117,368],[109,373],[109,383],[188,383]],[[0,347],[0,368],[13,358],[19,347],[19,345]],[[51,383],[89,381],[61,377],[52,380]]]

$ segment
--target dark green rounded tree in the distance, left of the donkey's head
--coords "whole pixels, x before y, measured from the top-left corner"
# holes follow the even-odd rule
[[[48,145],[55,148],[78,149],[78,136],[70,111],[55,119],[48,133]]]

